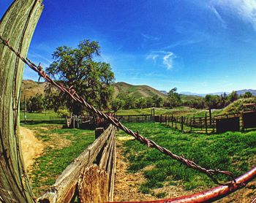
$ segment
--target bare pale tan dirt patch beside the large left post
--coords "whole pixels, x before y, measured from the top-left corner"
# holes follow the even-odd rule
[[[33,131],[29,129],[20,127],[20,135],[25,167],[29,170],[29,167],[34,164],[34,158],[37,158],[42,154],[44,145],[34,137]]]

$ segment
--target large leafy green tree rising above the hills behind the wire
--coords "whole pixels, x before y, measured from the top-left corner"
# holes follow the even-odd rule
[[[113,97],[114,74],[110,64],[94,61],[99,56],[99,43],[88,39],[79,43],[78,48],[58,47],[53,53],[53,63],[46,72],[64,85],[73,86],[90,104],[99,109],[108,108]],[[83,107],[64,93],[59,93],[61,101],[78,115]]]

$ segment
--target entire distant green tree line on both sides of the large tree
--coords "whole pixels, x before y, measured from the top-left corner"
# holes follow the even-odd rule
[[[163,99],[161,96],[155,94],[154,96],[141,97],[136,99],[125,93],[119,93],[116,98],[108,101],[108,107],[105,110],[130,110],[130,109],[144,109],[151,107],[181,107],[187,106],[195,109],[222,109],[227,105],[235,102],[240,98],[250,98],[252,93],[246,92],[244,95],[238,95],[236,91],[232,93],[222,93],[221,95],[206,95],[205,97],[195,97],[188,101],[183,101],[181,95],[177,93],[177,88],[171,89],[167,93],[167,97]],[[20,103],[20,109],[24,110],[24,102]],[[60,115],[69,115],[72,112],[72,107],[59,96],[58,93],[48,93],[48,88],[45,89],[45,96],[37,94],[26,100],[27,112],[42,112],[43,110],[59,112]],[[68,111],[69,110],[69,111]]]

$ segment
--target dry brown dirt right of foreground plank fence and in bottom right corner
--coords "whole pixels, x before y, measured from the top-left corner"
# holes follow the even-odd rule
[[[136,172],[135,174],[128,172],[129,162],[123,156],[123,143],[127,137],[117,137],[117,157],[116,157],[116,179],[114,201],[116,202],[139,202],[157,200],[156,196],[150,194],[143,194],[139,191],[141,183],[146,180],[143,177],[143,172]],[[132,139],[132,138],[131,138]],[[194,194],[198,191],[203,191],[205,188],[197,188],[196,191],[185,191],[182,186],[166,185],[164,188],[154,190],[154,194],[165,192],[164,199],[175,198],[178,196],[185,196]],[[246,185],[246,188],[236,191],[229,196],[220,199],[217,202],[237,202],[249,203],[256,197],[256,180]]]

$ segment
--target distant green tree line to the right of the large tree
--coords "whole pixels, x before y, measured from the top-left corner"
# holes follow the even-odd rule
[[[129,96],[124,93],[118,94],[116,99],[111,102],[111,107],[114,112],[118,110],[129,110],[135,108],[148,108],[148,107],[181,107],[187,106],[195,109],[222,109],[227,107],[232,102],[235,102],[240,98],[250,98],[252,97],[251,92],[246,92],[244,95],[238,95],[236,91],[232,93],[222,93],[221,95],[206,95],[205,97],[197,96],[193,99],[183,101],[181,99],[181,94],[177,93],[177,88],[171,89],[167,93],[167,97],[163,99],[157,94],[151,97],[142,97],[140,99],[135,99],[134,96]]]

